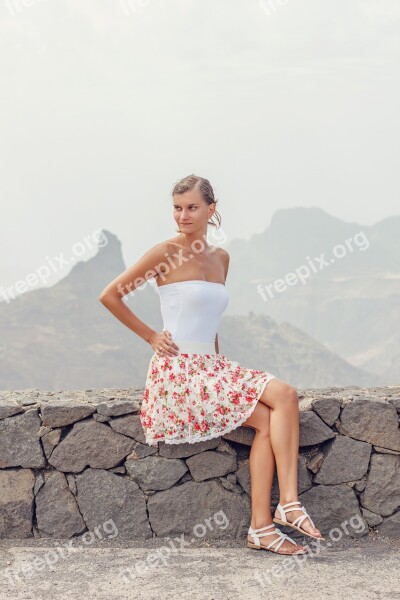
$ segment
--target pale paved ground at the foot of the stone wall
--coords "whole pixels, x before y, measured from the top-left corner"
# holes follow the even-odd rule
[[[245,542],[185,547],[179,537],[146,545],[0,540],[0,599],[400,600],[400,540],[370,534],[309,543],[311,554],[295,558]]]

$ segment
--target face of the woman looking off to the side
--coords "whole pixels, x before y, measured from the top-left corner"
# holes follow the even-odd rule
[[[207,231],[207,221],[215,210],[208,205],[199,190],[190,190],[173,196],[174,219],[182,233]]]

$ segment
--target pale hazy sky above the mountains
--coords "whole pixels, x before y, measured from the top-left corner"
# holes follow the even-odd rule
[[[190,173],[228,241],[398,214],[399,34],[399,0],[1,0],[1,284],[98,228],[131,264]]]

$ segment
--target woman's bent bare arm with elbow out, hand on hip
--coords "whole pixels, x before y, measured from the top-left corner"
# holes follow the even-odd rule
[[[134,265],[118,275],[99,296],[100,302],[119,320],[146,342],[156,334],[123,302],[122,298],[137,287],[158,275],[158,266],[165,260],[165,243],[161,242],[148,250]]]

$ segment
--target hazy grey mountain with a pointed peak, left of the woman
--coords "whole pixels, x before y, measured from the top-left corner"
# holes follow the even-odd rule
[[[104,287],[125,270],[119,240],[108,231],[103,235],[108,243],[56,285],[0,304],[2,389],[139,382],[152,349],[99,302]],[[154,292],[146,289],[141,294],[148,321],[159,327]]]

